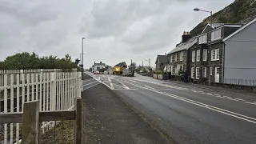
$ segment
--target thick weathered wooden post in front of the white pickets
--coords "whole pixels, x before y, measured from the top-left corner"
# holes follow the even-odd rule
[[[39,133],[39,102],[26,102],[24,103],[22,116],[22,143],[39,144]]]

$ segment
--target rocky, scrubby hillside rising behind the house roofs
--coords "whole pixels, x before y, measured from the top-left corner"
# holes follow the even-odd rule
[[[223,10],[213,14],[213,22],[218,23],[238,23],[256,17],[256,0],[235,0]],[[207,23],[210,22],[210,17],[199,23],[190,31],[190,34],[197,35],[202,32]]]

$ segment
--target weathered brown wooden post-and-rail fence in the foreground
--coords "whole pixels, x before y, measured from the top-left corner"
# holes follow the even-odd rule
[[[0,114],[1,123],[22,123],[22,141],[26,144],[40,142],[42,122],[74,120],[74,140],[82,143],[82,99],[75,98],[74,110],[39,111],[39,101],[24,103],[22,113]]]

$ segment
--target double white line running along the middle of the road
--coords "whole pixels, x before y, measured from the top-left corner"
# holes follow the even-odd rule
[[[129,82],[126,82],[126,83],[129,83]],[[131,84],[131,85],[138,86],[136,84]],[[142,87],[142,86],[138,86],[138,87]],[[205,107],[206,109],[214,110],[216,112],[226,114],[226,115],[230,115],[231,117],[239,118],[239,119],[245,120],[247,122],[252,122],[252,123],[256,124],[256,118],[250,118],[250,117],[248,117],[246,115],[243,115],[243,114],[234,113],[232,111],[224,110],[224,109],[218,108],[216,106],[206,105],[202,102],[197,102],[197,101],[191,100],[189,98],[183,98],[183,97],[180,97],[178,95],[169,94],[169,93],[158,91],[158,90],[152,90],[152,89],[149,89],[149,88],[146,88],[146,87],[144,87],[144,89],[151,90],[151,91],[154,91],[154,92],[159,93],[159,94],[164,94],[164,95],[169,96],[171,98],[176,98],[176,99],[182,100],[184,102],[189,102],[189,103],[197,105],[197,106]]]

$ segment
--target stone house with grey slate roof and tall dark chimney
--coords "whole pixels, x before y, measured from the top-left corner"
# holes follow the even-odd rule
[[[167,54],[167,71],[172,75],[181,73],[190,74],[190,47],[194,46],[197,38],[191,38],[189,32],[184,32],[182,35],[182,42],[178,43],[174,50]]]

